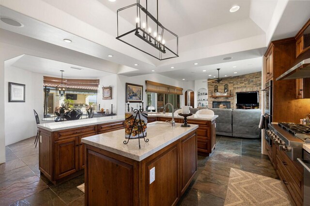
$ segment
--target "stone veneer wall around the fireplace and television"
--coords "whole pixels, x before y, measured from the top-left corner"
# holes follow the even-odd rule
[[[232,92],[233,97],[218,97],[212,98],[212,93],[215,95],[214,86],[218,86],[218,92],[224,93],[224,85],[228,84],[230,95]],[[262,108],[262,72],[256,72],[251,74],[244,74],[240,76],[233,76],[228,78],[223,78],[220,83],[209,82],[208,83],[208,105],[212,108],[213,101],[229,101],[231,102],[231,108],[236,109],[236,92],[240,91],[259,91],[259,108]]]

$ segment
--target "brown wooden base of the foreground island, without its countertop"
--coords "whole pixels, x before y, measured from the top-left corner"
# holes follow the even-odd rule
[[[176,205],[197,172],[197,130],[142,161],[85,144],[85,205]],[[155,181],[150,184],[150,169]]]

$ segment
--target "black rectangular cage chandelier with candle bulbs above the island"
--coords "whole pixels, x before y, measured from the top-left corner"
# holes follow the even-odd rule
[[[147,0],[145,5],[137,0],[117,10],[116,39],[159,60],[179,57],[179,37],[158,21],[158,0],[156,18],[148,11]]]

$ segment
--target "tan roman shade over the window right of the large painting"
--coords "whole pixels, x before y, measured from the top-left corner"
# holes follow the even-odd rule
[[[164,93],[164,94],[183,94],[183,88],[165,85],[158,82],[145,81],[146,92]]]

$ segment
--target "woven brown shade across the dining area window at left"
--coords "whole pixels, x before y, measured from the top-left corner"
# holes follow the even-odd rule
[[[57,77],[43,76],[44,86],[58,87],[61,83],[67,88],[80,88],[97,90],[99,87],[99,79],[62,79]]]

